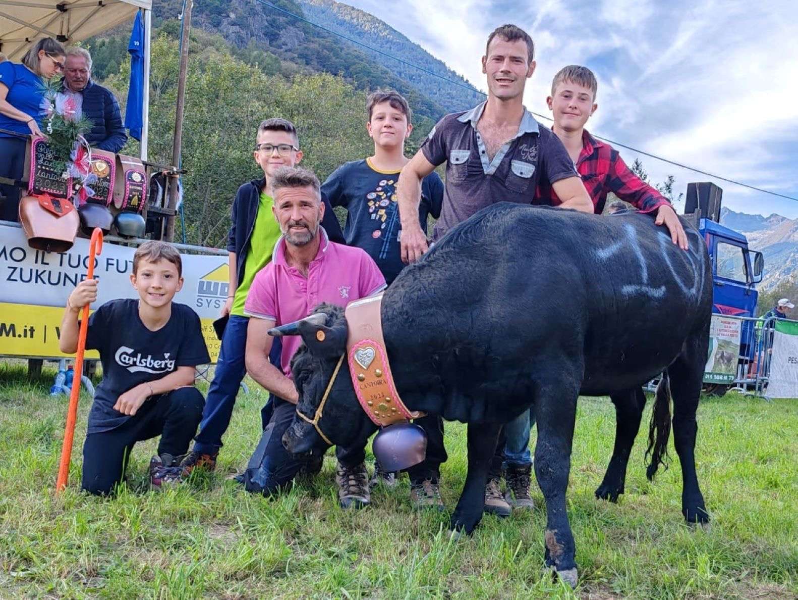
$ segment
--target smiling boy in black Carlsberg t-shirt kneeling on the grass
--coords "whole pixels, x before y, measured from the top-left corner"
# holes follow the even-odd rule
[[[138,300],[103,304],[89,317],[86,349],[100,352],[103,378],[89,412],[83,444],[82,488],[113,491],[124,476],[136,442],[160,435],[150,461],[155,489],[180,482],[177,465],[196,433],[205,400],[194,386],[194,369],[211,362],[196,312],[172,298],[183,287],[180,253],[148,241],[133,256],[130,282]],[[97,280],[81,281],[69,295],[61,320],[61,352],[77,349],[78,316],[97,300]]]

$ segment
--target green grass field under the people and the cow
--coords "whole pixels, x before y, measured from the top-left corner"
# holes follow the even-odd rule
[[[442,533],[446,515],[411,510],[406,478],[376,491],[365,511],[340,510],[330,457],[282,497],[239,490],[225,477],[259,435],[265,395],[254,386],[239,395],[214,474],[150,492],[155,443],[140,443],[115,499],[77,491],[90,403],[81,398],[69,489],[54,499],[66,399],[47,394],[52,377],[29,383],[22,368],[0,364],[2,598],[798,597],[798,401],[729,394],[701,403],[698,474],[713,523],[693,530],[681,519],[678,459],[648,483],[643,435],[626,495],[594,498],[614,411],[607,399],[581,400],[568,494],[580,582],[571,592],[543,572],[537,487],[535,511],[486,516],[460,542]],[[452,509],[464,426],[447,425],[447,448],[442,493]]]

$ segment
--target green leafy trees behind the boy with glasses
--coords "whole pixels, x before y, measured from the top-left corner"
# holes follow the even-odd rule
[[[305,153],[302,165],[320,180],[346,161],[368,156],[365,92],[341,77],[268,74],[235,58],[215,36],[192,31],[183,124],[184,217],[187,241],[221,246],[230,226],[235,192],[263,177],[252,157],[255,132],[268,117],[293,121]],[[160,34],[152,43],[150,150],[153,161],[172,160],[178,65],[177,41]],[[104,83],[127,97],[129,62]],[[271,71],[271,70],[270,70]],[[123,107],[124,110],[124,107]],[[129,141],[123,153],[137,153]]]

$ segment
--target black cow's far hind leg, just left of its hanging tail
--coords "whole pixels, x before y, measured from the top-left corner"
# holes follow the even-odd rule
[[[596,498],[617,502],[626,483],[626,466],[632,452],[634,438],[638,435],[646,395],[642,387],[610,395],[615,405],[615,447],[610,464],[601,485],[596,489]]]

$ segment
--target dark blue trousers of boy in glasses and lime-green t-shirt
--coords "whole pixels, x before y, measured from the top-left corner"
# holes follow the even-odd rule
[[[202,454],[216,454],[222,447],[222,435],[230,425],[235,406],[235,396],[247,373],[245,353],[247,350],[247,327],[249,317],[231,315],[224,328],[222,348],[213,375],[211,387],[207,391],[202,422],[199,433],[194,438],[194,451]],[[269,353],[271,364],[280,364],[282,344],[275,338]]]

